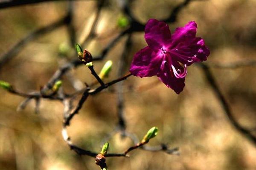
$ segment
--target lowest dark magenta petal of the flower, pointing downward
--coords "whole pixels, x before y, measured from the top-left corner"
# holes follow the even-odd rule
[[[176,66],[176,65],[175,65]],[[181,66],[180,68],[176,69],[183,69]],[[168,87],[172,88],[175,93],[180,94],[183,91],[185,86],[185,77],[184,78],[176,78],[175,75],[172,73],[172,70],[169,64],[166,62],[163,66],[163,69],[159,71],[157,77]]]

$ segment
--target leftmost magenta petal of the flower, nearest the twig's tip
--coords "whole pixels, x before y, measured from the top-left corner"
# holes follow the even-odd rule
[[[148,46],[134,55],[130,72],[134,76],[151,77],[157,75],[163,60],[161,53],[153,51]]]

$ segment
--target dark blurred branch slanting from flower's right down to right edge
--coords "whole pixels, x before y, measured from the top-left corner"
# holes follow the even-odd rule
[[[230,120],[230,123],[236,128],[236,130],[238,130],[241,134],[247,137],[247,139],[253,142],[254,145],[256,145],[256,136],[253,136],[253,133],[250,130],[242,127],[233,116],[230,106],[228,105],[224,95],[221,93],[221,90],[217,85],[217,82],[213,77],[212,72],[209,70],[209,66],[205,65],[204,63],[200,63],[200,66],[205,74],[205,77],[207,78],[207,81],[212,86],[213,91],[218,97],[218,100],[221,102],[222,108],[224,109],[227,118]]]

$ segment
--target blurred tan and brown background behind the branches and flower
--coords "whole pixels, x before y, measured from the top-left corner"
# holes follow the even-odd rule
[[[131,11],[141,23],[150,18],[164,20],[183,0],[133,0]],[[67,14],[70,3],[65,1],[38,3],[0,9],[0,54],[38,28],[59,20]],[[96,17],[96,0],[73,2],[72,24],[77,42],[83,42]],[[169,24],[171,32],[188,21],[198,23],[198,37],[203,37],[211,54],[211,64],[229,64],[256,59],[255,0],[193,0]],[[84,48],[93,56],[101,54],[119,32],[124,17],[118,0],[107,0],[99,14],[96,37],[85,42]],[[117,77],[119,58],[127,36],[109,51],[103,61],[95,62],[100,71],[111,59],[113,69],[105,81]],[[126,68],[133,55],[146,46],[144,32],[131,35]],[[38,91],[64,63],[75,59],[74,48],[66,26],[38,36],[22,48],[0,70],[0,79],[17,90]],[[214,77],[227,99],[236,120],[256,135],[256,67],[212,67]],[[70,75],[83,82],[93,82],[90,71],[81,65]],[[70,77],[63,77],[65,92],[75,91]],[[256,170],[256,144],[241,135],[221,107],[198,65],[188,68],[186,86],[180,95],[156,83],[157,77],[129,77],[123,84],[127,131],[140,139],[152,126],[159,128],[157,137],[148,145],[168,143],[179,147],[180,156],[164,152],[134,150],[130,158],[107,158],[109,170]],[[89,96],[79,115],[68,127],[74,144],[99,152],[105,136],[116,127],[117,95],[110,90]],[[24,98],[0,89],[0,169],[1,170],[97,170],[95,159],[78,156],[61,136],[63,105],[58,101],[41,100],[40,113],[35,114],[32,101],[17,111]],[[77,98],[78,101],[80,96]],[[122,153],[132,146],[128,138],[117,133],[110,140],[109,153]]]

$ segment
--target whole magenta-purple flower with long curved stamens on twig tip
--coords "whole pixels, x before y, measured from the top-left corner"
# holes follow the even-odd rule
[[[157,76],[177,94],[183,91],[187,66],[207,59],[209,49],[195,37],[197,24],[190,21],[171,34],[169,26],[155,19],[145,26],[147,47],[134,55],[130,72],[138,77]]]

